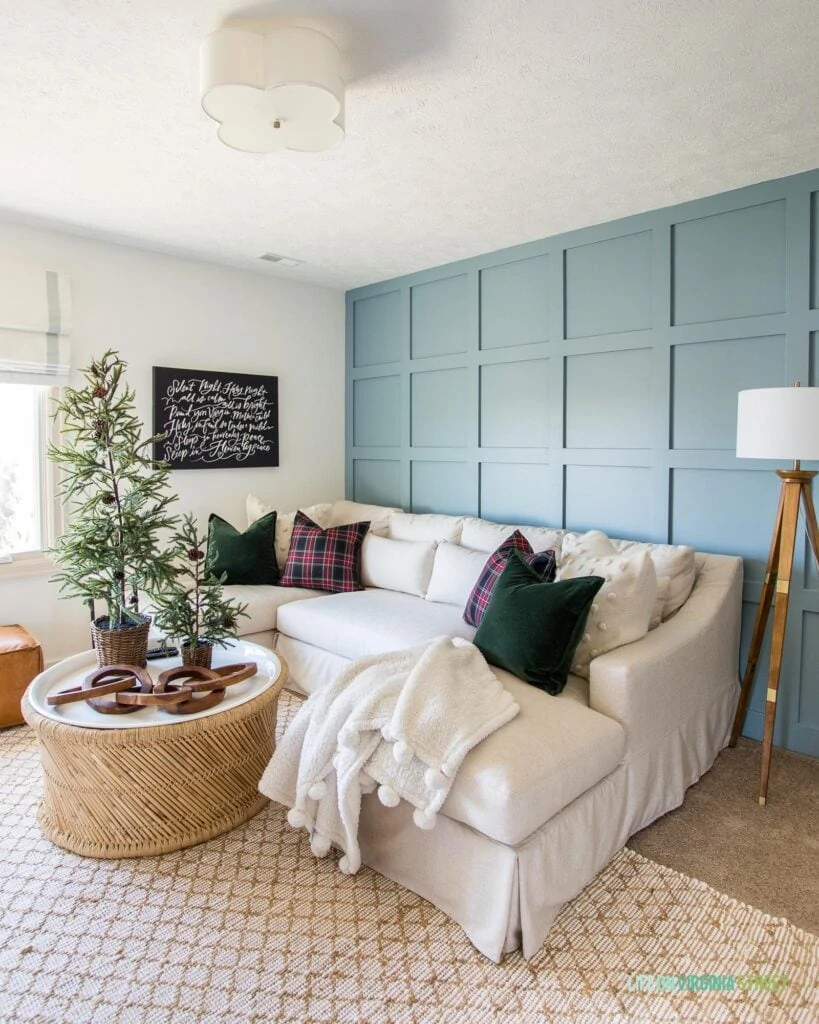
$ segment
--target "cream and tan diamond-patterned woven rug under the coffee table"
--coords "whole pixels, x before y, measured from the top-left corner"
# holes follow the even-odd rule
[[[816,936],[630,850],[499,967],[420,897],[315,860],[275,806],[99,861],[40,834],[28,728],[0,732],[0,779],[3,1024],[817,1020]]]

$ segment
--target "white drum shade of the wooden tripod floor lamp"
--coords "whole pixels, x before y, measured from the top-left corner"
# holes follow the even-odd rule
[[[739,459],[819,461],[819,387],[765,387],[740,391]]]

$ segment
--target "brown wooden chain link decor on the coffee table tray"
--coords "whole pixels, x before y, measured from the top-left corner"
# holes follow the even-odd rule
[[[193,715],[215,708],[225,689],[255,676],[255,662],[204,669],[183,665],[161,672],[157,682],[134,665],[107,665],[85,677],[82,686],[52,693],[51,708],[87,700],[101,715],[130,715],[140,708],[162,708],[170,715]]]

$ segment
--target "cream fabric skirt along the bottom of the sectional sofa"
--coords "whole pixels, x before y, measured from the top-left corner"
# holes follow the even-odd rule
[[[347,663],[285,635],[294,688],[311,691]],[[738,695],[735,683],[706,701],[692,694],[688,714],[669,734],[627,756],[608,776],[546,821],[522,843],[507,846],[446,816],[429,831],[405,803],[361,804],[363,863],[418,893],[457,922],[489,959],[521,949],[533,956],[561,907],[577,896],[634,833],[679,807],[688,786],[726,745]]]

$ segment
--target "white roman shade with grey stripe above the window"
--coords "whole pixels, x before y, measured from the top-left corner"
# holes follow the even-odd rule
[[[0,384],[68,384],[70,337],[69,279],[0,260]]]

